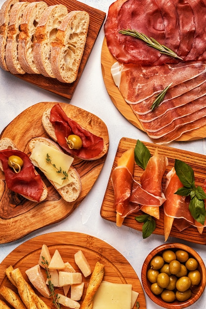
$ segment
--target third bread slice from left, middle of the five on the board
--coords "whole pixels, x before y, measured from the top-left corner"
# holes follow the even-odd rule
[[[24,10],[18,39],[18,59],[22,69],[29,74],[40,74],[33,55],[35,32],[44,10],[47,8],[44,1],[31,2]]]

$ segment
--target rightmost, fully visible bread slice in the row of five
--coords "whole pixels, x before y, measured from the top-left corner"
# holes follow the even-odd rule
[[[76,80],[89,27],[89,14],[85,11],[71,11],[63,19],[51,42],[51,69],[61,82]]]

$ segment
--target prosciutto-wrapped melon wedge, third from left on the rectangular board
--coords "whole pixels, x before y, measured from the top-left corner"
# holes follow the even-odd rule
[[[165,241],[171,231],[172,225],[175,225],[179,231],[182,231],[194,223],[194,219],[189,211],[189,200],[187,197],[175,194],[183,187],[174,167],[166,175],[165,184],[165,203],[164,203],[164,233]],[[178,221],[177,221],[178,220]],[[175,222],[176,221],[176,222]]]

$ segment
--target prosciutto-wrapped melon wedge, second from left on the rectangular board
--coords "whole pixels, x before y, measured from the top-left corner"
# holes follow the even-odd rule
[[[167,165],[167,157],[163,154],[158,154],[158,148],[156,148],[155,153],[150,157],[146,169],[140,178],[142,188],[156,196],[164,196],[162,193],[162,180]],[[160,219],[159,206],[143,205],[141,210],[157,219]]]

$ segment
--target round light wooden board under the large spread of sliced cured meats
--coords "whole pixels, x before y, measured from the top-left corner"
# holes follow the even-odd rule
[[[104,38],[101,52],[101,65],[102,65],[102,76],[104,79],[107,92],[109,93],[113,104],[116,106],[119,112],[135,127],[145,132],[140,121],[133,113],[129,104],[126,103],[119,88],[114,83],[113,77],[111,75],[111,67],[116,61],[117,59],[114,58],[110,53],[107,47],[106,38]],[[199,129],[182,134],[182,136],[178,138],[177,141],[197,140],[205,137],[206,137],[206,125]]]

